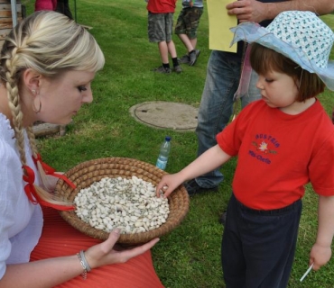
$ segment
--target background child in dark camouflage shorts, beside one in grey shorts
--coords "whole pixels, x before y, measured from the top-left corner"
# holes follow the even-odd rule
[[[183,0],[182,10],[175,26],[175,34],[179,36],[188,53],[180,58],[180,63],[195,65],[199,58],[197,44],[197,28],[199,18],[203,14],[203,0]]]

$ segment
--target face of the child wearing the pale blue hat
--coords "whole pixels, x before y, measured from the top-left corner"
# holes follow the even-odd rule
[[[292,76],[271,71],[259,75],[256,87],[260,89],[262,99],[269,107],[289,110],[298,95],[298,87]]]

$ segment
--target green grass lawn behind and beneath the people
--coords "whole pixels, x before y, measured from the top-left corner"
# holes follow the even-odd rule
[[[27,2],[32,13],[33,2]],[[70,1],[73,4],[72,1]],[[177,3],[176,16],[181,8]],[[74,9],[72,6],[72,13]],[[78,22],[92,26],[106,56],[106,67],[93,83],[94,102],[83,107],[67,127],[63,137],[39,140],[44,160],[59,171],[66,171],[85,160],[98,157],[133,157],[155,164],[166,134],[172,136],[172,155],[167,172],[174,173],[196,157],[194,132],[155,130],[135,121],[129,109],[146,101],[170,101],[199,106],[209,59],[208,15],[199,24],[200,57],[195,67],[183,66],[181,75],[157,75],[150,70],[161,65],[156,44],[147,39],[147,12],[144,0],[80,0]],[[334,15],[323,17],[334,28]],[[179,56],[185,53],[181,41],[173,38]],[[334,58],[334,53],[331,54]],[[334,107],[329,91],[320,96],[326,111]],[[224,287],[220,266],[220,241],[223,227],[218,216],[227,206],[236,160],[222,171],[225,181],[219,193],[204,193],[191,198],[190,212],[181,226],[162,237],[153,247],[153,263],[162,284],[169,288]],[[289,287],[329,288],[334,286],[334,260],[300,284],[308,267],[309,252],[317,229],[317,197],[310,186],[304,208],[298,247]]]

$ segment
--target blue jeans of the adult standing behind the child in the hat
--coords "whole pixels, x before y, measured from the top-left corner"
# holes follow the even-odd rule
[[[232,115],[241,63],[241,58],[236,54],[218,50],[211,52],[196,128],[198,157],[217,144],[216,135],[225,128]],[[259,90],[255,87],[256,81],[257,75],[252,73],[249,84],[251,89],[248,90],[248,95],[241,98],[242,107],[260,98]],[[195,180],[203,188],[212,188],[218,186],[223,179],[224,176],[216,169]]]

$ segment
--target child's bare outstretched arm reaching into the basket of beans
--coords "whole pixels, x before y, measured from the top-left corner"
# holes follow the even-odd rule
[[[231,156],[227,155],[218,145],[209,148],[205,153],[200,155],[196,160],[190,163],[190,165],[183,168],[180,172],[172,175],[163,175],[162,181],[157,185],[156,191],[159,195],[159,191],[164,192],[164,197],[168,197],[180,184],[186,180],[196,178],[199,175],[206,174],[218,166],[221,166]],[[163,189],[163,187],[168,187]]]

